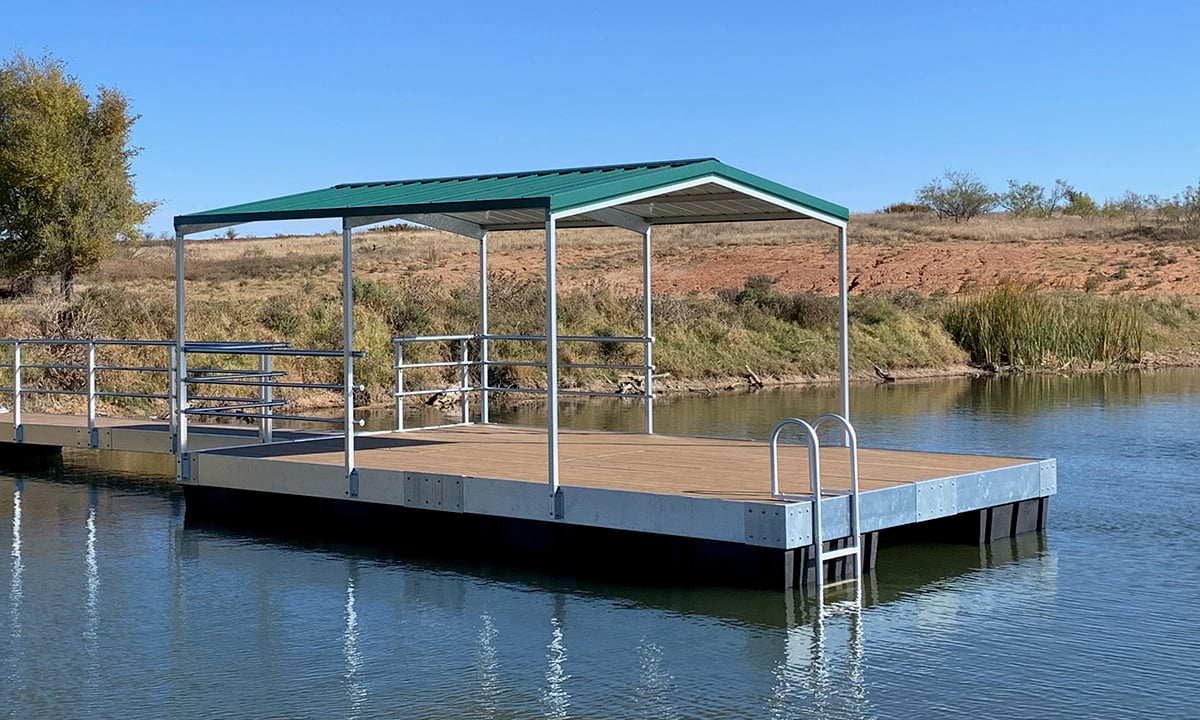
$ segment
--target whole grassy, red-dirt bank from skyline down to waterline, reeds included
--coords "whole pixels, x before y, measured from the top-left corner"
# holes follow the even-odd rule
[[[983,372],[1090,372],[1200,365],[1200,234],[1123,218],[980,216],[938,222],[924,214],[851,220],[851,368],[904,379]],[[640,260],[632,235],[560,235],[563,335],[641,334]],[[662,228],[656,232],[653,313],[656,391],[686,392],[827,382],[838,372],[835,236],[815,223]],[[490,244],[490,323],[496,334],[544,331],[541,236]],[[354,238],[355,366],[361,404],[391,401],[394,335],[463,334],[478,322],[473,242],[390,226]],[[71,302],[50,290],[0,301],[0,337],[170,338],[169,242],[124,244],[77,278]],[[920,268],[913,274],[912,269]],[[287,340],[341,346],[337,242],[331,235],[196,240],[187,244],[193,340]],[[443,343],[414,344],[414,361],[450,359]],[[4,352],[0,349],[0,352]],[[70,348],[54,352],[70,361]],[[106,361],[157,365],[136,348]],[[161,350],[158,350],[161,353]],[[456,352],[456,349],[455,349]],[[542,344],[493,341],[491,356],[539,360]],[[638,365],[641,344],[564,343],[564,362]],[[36,355],[35,355],[36,356]],[[8,358],[2,358],[5,362]],[[36,361],[36,360],[31,360]],[[329,382],[337,361],[280,361],[292,379]],[[440,386],[444,368],[409,371],[406,384]],[[2,372],[2,371],[0,371]],[[499,367],[492,384],[541,386],[538,367]],[[637,371],[564,370],[564,388],[616,390]],[[77,383],[78,378],[59,380]],[[7,378],[5,378],[7,379]],[[131,390],[162,378],[122,377]],[[292,394],[298,407],[337,404]],[[38,404],[38,398],[30,407]],[[53,406],[55,401],[42,402]],[[56,401],[59,403],[66,401]],[[120,408],[161,412],[152,402]],[[118,408],[106,408],[118,409]]]

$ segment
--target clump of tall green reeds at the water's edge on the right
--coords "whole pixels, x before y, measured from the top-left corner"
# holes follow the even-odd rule
[[[1138,299],[1015,282],[950,300],[942,324],[972,361],[1020,367],[1138,362],[1146,340]]]

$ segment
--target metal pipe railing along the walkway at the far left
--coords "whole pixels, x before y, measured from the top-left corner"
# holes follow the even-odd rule
[[[18,443],[24,439],[22,415],[25,401],[34,395],[83,397],[91,446],[97,445],[97,406],[106,400],[166,403],[164,415],[170,421],[172,436],[176,438],[181,434],[180,425],[186,422],[182,420],[186,416],[257,424],[260,443],[272,442],[276,421],[343,424],[347,418],[353,419],[353,406],[344,408],[341,416],[277,412],[288,403],[284,397],[276,395],[278,389],[343,391],[344,385],[289,382],[287,371],[276,368],[274,359],[342,359],[343,350],[295,349],[284,342],[188,342],[180,354],[175,342],[169,340],[112,338],[0,338],[0,348],[4,347],[8,348],[8,353],[7,358],[0,360],[0,371],[7,371],[10,383],[0,386],[0,394],[12,398],[12,439]],[[103,358],[106,349],[116,347],[161,352],[162,361],[118,364],[98,359]],[[34,348],[41,352],[31,352]],[[216,360],[218,355],[222,358]],[[359,350],[352,353],[355,359],[362,355]],[[210,362],[193,366],[188,362],[190,356],[204,356]],[[240,366],[245,362],[236,359],[247,356],[256,359],[256,367]],[[138,373],[163,376],[163,379],[150,383],[149,390],[120,389],[122,383],[114,382],[114,378]],[[360,420],[352,421],[361,425]]]

